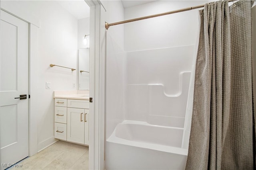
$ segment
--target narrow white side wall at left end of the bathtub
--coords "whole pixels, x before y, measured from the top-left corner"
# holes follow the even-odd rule
[[[124,20],[121,1],[104,1],[106,21]],[[124,25],[116,25],[106,31],[106,139],[116,125],[124,120],[125,61]]]

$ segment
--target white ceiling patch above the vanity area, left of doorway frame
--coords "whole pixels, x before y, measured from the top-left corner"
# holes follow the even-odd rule
[[[90,7],[84,0],[57,0],[57,2],[78,20],[90,17]]]

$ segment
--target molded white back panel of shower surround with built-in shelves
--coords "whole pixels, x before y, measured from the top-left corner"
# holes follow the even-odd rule
[[[127,52],[125,119],[184,127],[194,46]]]

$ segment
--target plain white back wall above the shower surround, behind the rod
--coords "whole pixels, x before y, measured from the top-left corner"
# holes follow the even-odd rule
[[[202,0],[154,1],[126,8],[124,19],[129,20],[152,14],[160,14],[190,6],[205,4]],[[124,49],[137,51],[194,45],[198,32],[198,10],[190,10],[147,20],[125,24]]]

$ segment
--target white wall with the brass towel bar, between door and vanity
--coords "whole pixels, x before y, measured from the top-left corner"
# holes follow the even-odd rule
[[[1,7],[17,13],[34,16],[40,21],[38,29],[38,106],[32,110],[38,119],[38,150],[54,142],[54,90],[76,90],[77,72],[66,68],[50,67],[57,64],[77,68],[78,21],[54,1],[1,1]],[[34,70],[30,70],[34,71]],[[51,89],[46,89],[46,81]],[[36,108],[34,108],[36,107]]]

